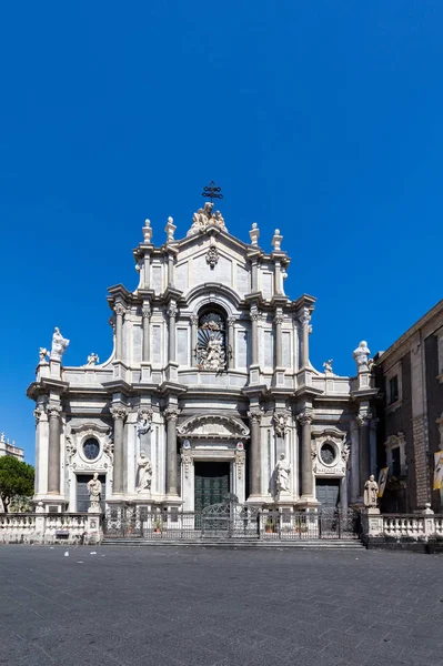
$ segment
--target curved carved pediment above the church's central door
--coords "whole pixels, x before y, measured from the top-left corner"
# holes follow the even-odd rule
[[[240,418],[202,414],[184,421],[178,427],[178,435],[193,440],[246,440],[249,427]]]

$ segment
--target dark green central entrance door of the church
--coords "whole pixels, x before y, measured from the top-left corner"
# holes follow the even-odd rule
[[[221,504],[230,492],[230,463],[194,463],[195,512]]]

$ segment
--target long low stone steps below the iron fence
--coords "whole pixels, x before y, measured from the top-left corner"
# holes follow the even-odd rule
[[[258,541],[258,539],[147,539],[138,537],[107,537],[102,542],[103,546],[203,546],[215,548],[336,548],[336,549],[362,549],[364,545],[359,539],[300,539],[300,541]]]

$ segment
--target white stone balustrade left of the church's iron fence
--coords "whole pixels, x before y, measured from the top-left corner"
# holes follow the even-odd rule
[[[98,543],[97,514],[0,514],[0,544]]]

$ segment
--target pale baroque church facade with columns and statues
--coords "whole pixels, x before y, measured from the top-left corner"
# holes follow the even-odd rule
[[[252,224],[245,243],[205,203],[182,240],[169,218],[133,251],[139,285],[109,290],[111,357],[62,364],[56,329],[36,381],[36,495],[47,512],[101,506],[200,511],[235,496],[289,511],[348,507],[376,470],[370,352],[356,375],[310,363],[315,299],[284,292],[290,259]]]

